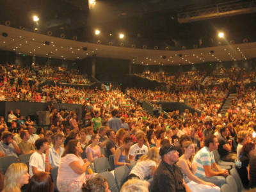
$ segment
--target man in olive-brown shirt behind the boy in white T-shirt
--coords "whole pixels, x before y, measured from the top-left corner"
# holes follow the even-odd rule
[[[20,131],[20,138],[22,141],[19,143],[19,148],[21,154],[31,154],[35,151],[34,146],[28,142],[29,137],[28,130]]]

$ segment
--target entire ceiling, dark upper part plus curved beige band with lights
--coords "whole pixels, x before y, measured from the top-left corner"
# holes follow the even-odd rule
[[[237,14],[232,4],[225,8],[234,12],[225,17],[178,19],[185,11],[230,3],[250,7]],[[8,0],[0,6],[0,49],[63,60],[122,58],[140,65],[248,60],[255,58],[254,12],[256,0],[96,0],[93,9],[88,0]],[[33,22],[33,15],[40,20]],[[219,31],[225,38],[218,38]]]

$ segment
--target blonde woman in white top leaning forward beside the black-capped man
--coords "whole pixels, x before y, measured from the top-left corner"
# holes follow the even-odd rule
[[[141,156],[136,165],[132,168],[128,179],[146,179],[147,177],[154,176],[157,164],[159,163],[159,149],[152,147],[148,150],[147,154]]]

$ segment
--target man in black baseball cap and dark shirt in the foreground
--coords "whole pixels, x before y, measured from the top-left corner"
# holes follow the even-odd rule
[[[183,180],[183,175],[176,163],[179,161],[179,152],[174,145],[163,145],[160,148],[161,163],[154,174],[152,183],[153,192],[190,192]]]

